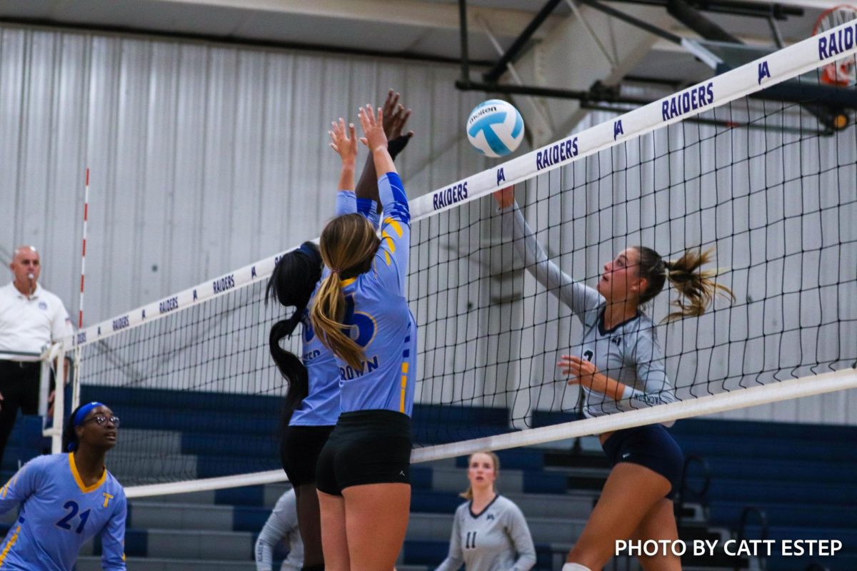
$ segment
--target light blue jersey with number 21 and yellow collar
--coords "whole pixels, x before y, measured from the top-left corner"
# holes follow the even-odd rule
[[[21,506],[0,548],[0,568],[71,571],[81,545],[101,537],[102,568],[125,568],[125,492],[107,472],[83,485],[74,454],[39,456],[27,462],[0,490],[0,514]]]

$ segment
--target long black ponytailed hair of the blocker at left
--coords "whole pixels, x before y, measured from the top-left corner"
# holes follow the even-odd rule
[[[312,297],[315,284],[321,279],[321,253],[315,243],[303,242],[301,247],[285,254],[274,266],[267,283],[265,302],[270,298],[283,306],[295,307],[291,317],[273,324],[268,336],[268,348],[279,372],[289,382],[285,395],[282,428],[289,424],[292,413],[309,394],[307,367],[300,357],[280,347],[279,342],[291,336],[301,323],[303,312]]]

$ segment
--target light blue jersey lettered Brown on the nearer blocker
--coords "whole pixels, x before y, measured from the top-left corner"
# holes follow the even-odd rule
[[[392,410],[411,416],[417,376],[417,321],[405,297],[411,249],[411,213],[396,173],[378,180],[384,212],[381,246],[372,269],[343,281],[344,323],[366,360],[339,365],[342,411]]]

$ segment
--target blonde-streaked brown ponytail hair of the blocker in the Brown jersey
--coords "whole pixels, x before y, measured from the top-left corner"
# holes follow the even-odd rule
[[[345,319],[343,281],[369,270],[380,243],[372,224],[360,214],[346,214],[333,218],[321,232],[321,259],[330,268],[309,311],[319,340],[354,369],[363,367],[363,348],[345,331],[351,326]]]

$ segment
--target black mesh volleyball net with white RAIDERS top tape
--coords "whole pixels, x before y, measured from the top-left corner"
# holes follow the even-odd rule
[[[857,387],[857,128],[830,111],[857,92],[813,91],[819,68],[854,60],[855,35],[836,27],[411,200],[414,461]],[[777,84],[808,89],[758,98]],[[580,354],[581,325],[503,229],[489,195],[511,184],[548,258],[592,286],[626,247],[714,249],[734,301],[659,324],[668,288],[646,309],[675,402],[572,420],[580,391],[556,362]],[[76,336],[73,400],[122,418],[111,471],[140,485],[129,496],[285,479],[267,339],[287,310],[264,302],[277,259]]]

